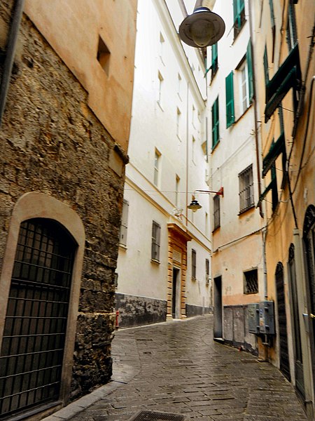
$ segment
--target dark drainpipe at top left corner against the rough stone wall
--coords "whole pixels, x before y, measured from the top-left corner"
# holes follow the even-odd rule
[[[15,47],[18,40],[18,32],[20,28],[20,22],[22,19],[23,9],[25,0],[16,0],[15,8],[12,13],[12,23],[8,32],[8,42],[6,46],[6,59],[3,65],[3,74],[0,85],[0,128],[2,122],[2,116],[6,107],[6,97],[8,95],[8,86],[10,83],[10,76],[12,73],[12,67],[15,56]]]

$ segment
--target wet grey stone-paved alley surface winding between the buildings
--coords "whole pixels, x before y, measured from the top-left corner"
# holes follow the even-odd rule
[[[208,315],[118,330],[112,378],[120,386],[71,420],[128,420],[139,410],[187,420],[307,420],[279,370],[214,342],[212,323]]]

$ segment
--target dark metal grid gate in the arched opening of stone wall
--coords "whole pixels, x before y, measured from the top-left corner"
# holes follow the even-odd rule
[[[0,354],[0,419],[57,401],[73,254],[57,222],[20,226]]]

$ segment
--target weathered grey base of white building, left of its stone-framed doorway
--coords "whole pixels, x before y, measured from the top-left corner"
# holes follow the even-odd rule
[[[116,293],[119,327],[141,326],[166,321],[167,302],[148,297]]]

